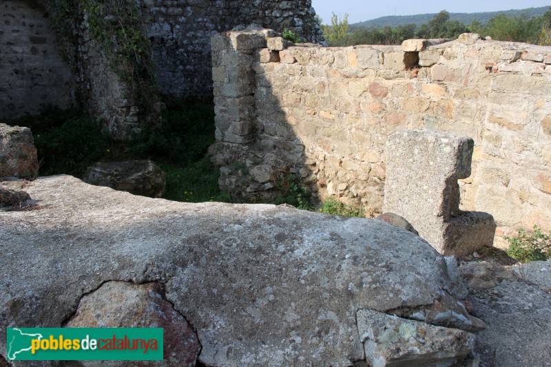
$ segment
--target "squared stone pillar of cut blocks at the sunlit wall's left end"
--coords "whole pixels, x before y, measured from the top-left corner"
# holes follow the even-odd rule
[[[253,50],[266,48],[265,31],[242,30],[211,36],[216,140],[247,144],[254,139]]]

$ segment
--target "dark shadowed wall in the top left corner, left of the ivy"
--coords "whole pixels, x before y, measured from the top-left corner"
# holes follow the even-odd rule
[[[74,78],[37,1],[0,3],[0,118],[74,104]]]

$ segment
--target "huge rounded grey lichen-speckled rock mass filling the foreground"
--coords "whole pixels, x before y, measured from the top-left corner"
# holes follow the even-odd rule
[[[449,286],[435,249],[379,220],[170,202],[70,176],[28,191],[41,210],[0,212],[4,329],[60,326],[103,282],[155,281],[204,364],[347,366],[364,359],[358,309],[430,306]]]

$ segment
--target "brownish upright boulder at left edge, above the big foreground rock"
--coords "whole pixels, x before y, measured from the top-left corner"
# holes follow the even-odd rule
[[[36,177],[37,148],[28,127],[0,123],[0,177]]]

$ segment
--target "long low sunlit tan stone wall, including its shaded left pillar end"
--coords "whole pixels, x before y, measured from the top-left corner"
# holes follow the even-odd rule
[[[421,52],[415,41],[287,47],[256,33],[212,39],[222,188],[265,200],[294,173],[314,197],[375,216],[388,136],[434,129],[475,140],[461,209],[491,213],[498,242],[551,227],[551,48],[472,36]]]

